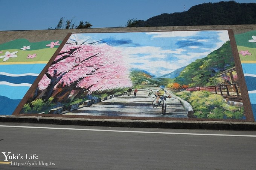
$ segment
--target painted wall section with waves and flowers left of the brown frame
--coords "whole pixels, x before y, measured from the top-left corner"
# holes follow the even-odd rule
[[[0,44],[0,115],[14,112],[58,45],[59,41],[27,39]]]

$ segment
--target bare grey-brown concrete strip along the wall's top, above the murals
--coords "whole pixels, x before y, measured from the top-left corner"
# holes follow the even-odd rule
[[[178,26],[178,27],[119,27],[97,29],[70,29],[70,30],[26,30],[0,31],[0,44],[15,39],[25,38],[30,42],[47,41],[52,39],[63,40],[68,33],[96,33],[96,32],[134,32],[134,31],[165,31],[165,30],[204,30],[204,29],[232,29],[234,34],[256,30],[256,25],[221,25],[221,26]]]

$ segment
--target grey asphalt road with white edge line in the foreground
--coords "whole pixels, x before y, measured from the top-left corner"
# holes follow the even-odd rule
[[[256,169],[256,131],[0,122],[0,150],[1,170]]]

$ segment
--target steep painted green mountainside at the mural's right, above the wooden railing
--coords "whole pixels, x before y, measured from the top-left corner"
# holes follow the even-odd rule
[[[210,86],[210,78],[234,66],[232,49],[230,42],[227,41],[208,56],[187,65],[180,75],[175,78],[174,82],[186,84],[190,87]]]

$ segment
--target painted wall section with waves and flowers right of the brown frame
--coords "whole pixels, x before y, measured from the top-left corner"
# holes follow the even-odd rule
[[[235,35],[254,120],[256,120],[256,30]]]

